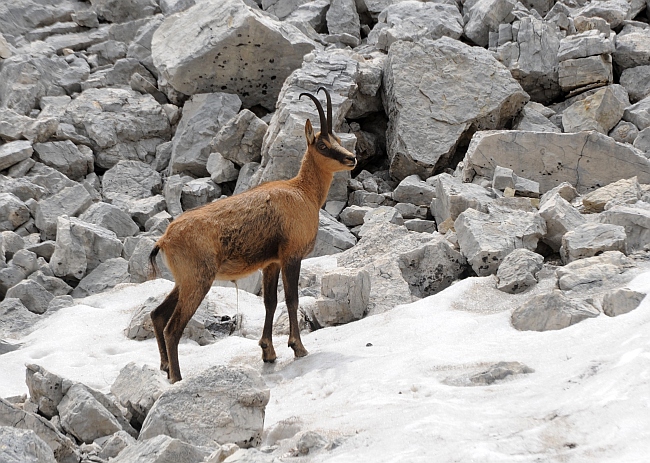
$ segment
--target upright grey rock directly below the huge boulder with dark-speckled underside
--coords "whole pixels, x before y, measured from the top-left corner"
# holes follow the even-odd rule
[[[235,0],[233,0],[235,1]],[[193,95],[183,107],[183,116],[173,138],[171,173],[209,176],[206,163],[210,142],[239,111],[241,100],[228,93]]]

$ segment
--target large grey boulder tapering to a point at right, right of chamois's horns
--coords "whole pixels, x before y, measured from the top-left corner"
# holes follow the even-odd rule
[[[528,101],[488,51],[446,37],[395,43],[383,88],[390,173],[397,179],[430,177],[469,132],[502,127]]]

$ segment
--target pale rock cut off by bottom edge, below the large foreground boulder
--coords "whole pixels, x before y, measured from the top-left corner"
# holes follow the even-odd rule
[[[184,461],[187,463],[200,463],[213,451],[215,445],[197,446],[174,439],[169,436],[159,435],[139,441],[121,451],[111,463],[173,463]]]

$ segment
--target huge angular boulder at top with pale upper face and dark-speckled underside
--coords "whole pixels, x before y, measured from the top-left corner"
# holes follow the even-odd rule
[[[210,0],[165,18],[151,51],[160,74],[180,92],[226,91],[246,107],[273,109],[282,83],[315,46],[242,0]]]

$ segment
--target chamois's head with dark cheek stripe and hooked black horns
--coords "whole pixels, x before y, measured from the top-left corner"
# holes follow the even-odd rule
[[[318,92],[321,90],[325,92],[325,97],[327,98],[327,119],[325,118],[323,107],[320,101],[318,101],[318,98],[311,93],[301,93],[299,97],[309,97],[316,105],[318,115],[320,116],[321,130],[316,134],[314,134],[311,121],[307,119],[307,122],[305,122],[307,149],[319,156],[319,163],[326,166],[332,172],[352,170],[357,165],[357,158],[353,153],[341,146],[341,139],[332,131],[332,99],[325,88],[320,87]]]

